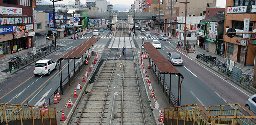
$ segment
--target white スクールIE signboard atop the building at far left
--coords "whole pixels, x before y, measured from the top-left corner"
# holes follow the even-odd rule
[[[0,6],[1,15],[22,15],[22,8]]]

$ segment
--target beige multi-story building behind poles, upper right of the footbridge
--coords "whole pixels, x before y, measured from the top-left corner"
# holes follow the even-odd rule
[[[178,16],[184,16],[185,4],[182,0],[164,0],[165,23],[174,22]],[[215,7],[216,0],[187,0],[187,16],[205,16],[206,7]],[[172,8],[171,8],[172,7]],[[171,15],[172,11],[172,15]],[[171,33],[175,36],[176,25],[169,26],[165,24],[164,32]]]

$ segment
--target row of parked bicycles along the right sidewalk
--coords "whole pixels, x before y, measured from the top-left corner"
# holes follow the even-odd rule
[[[232,71],[229,70],[229,64],[227,64],[224,61],[220,61],[216,59],[216,57],[205,56],[205,53],[200,52],[200,54],[196,55],[197,59],[204,60],[207,64],[210,63],[210,66],[215,66],[215,68],[219,68],[219,71],[221,71],[223,74],[226,74],[228,77],[232,74]],[[245,82],[252,83],[254,75],[247,74],[243,70],[241,71],[240,76]]]

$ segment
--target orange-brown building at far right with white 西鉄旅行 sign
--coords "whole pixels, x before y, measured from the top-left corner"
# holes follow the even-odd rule
[[[226,0],[224,27],[224,57],[244,66],[254,65],[256,41],[254,34],[236,34],[229,38],[226,31],[235,28],[236,32],[253,32],[256,26],[255,0]]]

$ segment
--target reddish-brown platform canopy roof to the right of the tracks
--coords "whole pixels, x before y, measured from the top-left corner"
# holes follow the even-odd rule
[[[177,74],[184,78],[183,75],[159,51],[157,51],[150,42],[144,43],[144,48],[162,74]]]

